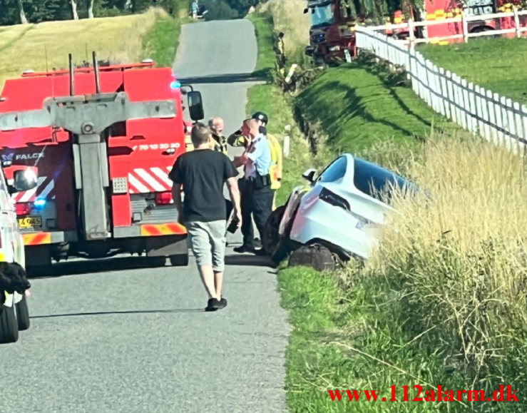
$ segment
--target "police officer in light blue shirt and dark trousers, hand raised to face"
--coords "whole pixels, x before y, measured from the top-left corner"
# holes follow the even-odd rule
[[[260,253],[255,250],[252,218],[261,239],[265,221],[272,210],[271,149],[256,119],[247,119],[241,132],[245,136],[247,146],[242,155],[235,156],[233,163],[236,167],[245,165],[245,174],[240,185],[243,244],[234,250],[236,253]]]

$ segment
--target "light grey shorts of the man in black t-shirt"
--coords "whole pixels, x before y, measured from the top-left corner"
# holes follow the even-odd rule
[[[192,252],[198,265],[212,265],[214,271],[225,270],[226,220],[185,223]]]

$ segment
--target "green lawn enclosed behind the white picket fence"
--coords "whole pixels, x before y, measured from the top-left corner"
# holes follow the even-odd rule
[[[476,85],[527,104],[527,39],[471,39],[466,44],[421,46],[419,51]]]

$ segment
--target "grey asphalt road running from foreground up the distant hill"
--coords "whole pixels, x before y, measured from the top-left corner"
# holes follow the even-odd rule
[[[183,28],[175,71],[213,77],[194,79],[205,116],[232,131],[255,60],[249,21],[198,23]],[[230,248],[227,263],[218,312],[203,311],[193,258],[183,268],[77,260],[31,280],[31,328],[0,346],[0,412],[284,411],[289,327],[275,270]]]

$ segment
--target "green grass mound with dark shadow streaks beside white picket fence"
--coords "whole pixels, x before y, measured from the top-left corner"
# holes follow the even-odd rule
[[[358,152],[387,139],[421,141],[432,127],[456,128],[410,88],[362,64],[329,69],[300,93],[296,104],[309,120],[320,122],[334,151]]]

